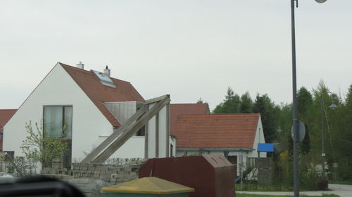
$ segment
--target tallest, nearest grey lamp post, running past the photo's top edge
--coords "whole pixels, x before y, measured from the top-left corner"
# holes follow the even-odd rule
[[[298,7],[298,0],[291,0],[291,39],[292,39],[292,111],[293,111],[293,144],[294,144],[294,196],[299,197],[299,176],[298,176],[298,105],[297,105],[297,83],[296,83],[296,36],[294,28],[294,1],[296,1],[296,7]],[[324,3],[326,0],[315,0],[318,3]]]

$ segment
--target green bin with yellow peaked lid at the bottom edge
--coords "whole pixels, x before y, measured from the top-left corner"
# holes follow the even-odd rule
[[[191,187],[158,177],[144,177],[101,189],[106,197],[187,197],[192,191]]]

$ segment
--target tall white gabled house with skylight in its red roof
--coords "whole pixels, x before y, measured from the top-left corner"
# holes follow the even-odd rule
[[[4,151],[14,151],[15,156],[23,156],[20,145],[27,136],[25,123],[42,121],[44,136],[47,137],[61,135],[63,127],[67,128],[65,140],[70,144],[67,157],[81,161],[144,102],[130,82],[112,78],[108,67],[103,72],[96,72],[84,70],[82,63],[72,67],[58,62],[4,126]],[[155,122],[154,117],[147,124],[151,133]],[[159,111],[158,122],[158,132],[162,137],[159,137],[158,148],[163,150],[158,156],[169,156],[169,152],[165,151],[170,146],[168,105]],[[145,127],[115,151],[113,157],[154,157],[152,153],[145,154],[144,133]],[[149,150],[152,148],[149,147]]]

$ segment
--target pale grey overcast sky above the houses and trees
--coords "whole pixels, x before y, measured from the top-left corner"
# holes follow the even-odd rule
[[[56,62],[130,81],[145,99],[201,97],[227,87],[291,102],[289,0],[0,1],[0,109],[23,103]],[[352,1],[300,0],[297,86],[352,83]]]

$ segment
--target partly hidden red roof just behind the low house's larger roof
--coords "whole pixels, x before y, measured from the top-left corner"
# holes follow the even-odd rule
[[[209,114],[208,103],[170,104],[170,135],[174,135],[177,116],[180,114]]]

